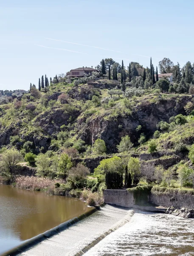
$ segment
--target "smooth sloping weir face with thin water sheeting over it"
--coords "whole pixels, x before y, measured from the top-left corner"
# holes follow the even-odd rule
[[[109,233],[124,225],[133,211],[127,208],[105,205],[100,210],[59,234],[46,238],[21,256],[64,256],[83,255]]]

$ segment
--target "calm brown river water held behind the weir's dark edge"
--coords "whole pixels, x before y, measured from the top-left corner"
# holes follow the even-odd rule
[[[75,198],[0,185],[0,254],[88,210]]]

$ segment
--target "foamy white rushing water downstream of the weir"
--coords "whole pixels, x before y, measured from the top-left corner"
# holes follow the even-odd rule
[[[84,256],[193,256],[194,221],[165,214],[135,213]]]

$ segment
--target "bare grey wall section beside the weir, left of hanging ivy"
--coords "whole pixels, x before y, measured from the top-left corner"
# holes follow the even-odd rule
[[[104,203],[114,204],[122,207],[132,207],[135,204],[133,193],[127,190],[105,189]]]

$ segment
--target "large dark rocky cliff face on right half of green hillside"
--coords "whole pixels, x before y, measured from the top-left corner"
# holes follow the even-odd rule
[[[139,134],[136,131],[138,125],[142,126],[142,132],[147,137],[152,136],[157,129],[156,125],[160,121],[169,121],[171,116],[185,113],[184,106],[191,100],[190,96],[183,96],[181,99],[164,100],[160,99],[157,103],[142,102],[133,109],[133,112],[127,117],[118,116],[116,119],[107,121],[104,116],[90,119],[87,127],[82,133],[82,138],[87,144],[92,144],[97,138],[105,141],[109,152],[117,151],[116,145],[124,135],[129,135],[134,144],[137,143]],[[85,120],[79,120],[79,126]],[[166,145],[167,146],[167,145]],[[164,148],[165,145],[164,145]],[[168,145],[170,148],[170,145]]]

